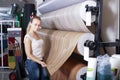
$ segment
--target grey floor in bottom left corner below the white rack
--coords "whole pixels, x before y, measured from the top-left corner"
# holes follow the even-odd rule
[[[9,80],[9,74],[12,69],[0,69],[0,80]]]

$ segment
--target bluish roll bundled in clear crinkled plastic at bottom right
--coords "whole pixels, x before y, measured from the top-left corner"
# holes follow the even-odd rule
[[[105,54],[98,56],[97,80],[112,80],[110,57]]]

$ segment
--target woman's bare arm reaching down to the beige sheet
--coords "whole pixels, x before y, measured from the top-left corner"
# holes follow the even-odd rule
[[[26,37],[24,39],[24,45],[26,56],[29,57],[31,60],[37,62],[38,64],[41,64],[42,67],[46,67],[46,64],[43,61],[40,61],[32,54],[31,40],[29,38]]]

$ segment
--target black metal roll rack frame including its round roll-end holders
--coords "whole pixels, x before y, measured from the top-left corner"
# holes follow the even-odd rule
[[[87,40],[84,45],[89,47],[89,49],[94,50],[93,57],[97,57],[98,55],[100,55],[100,48],[103,48],[106,53],[105,47],[116,47],[116,54],[120,54],[120,28],[119,28],[119,39],[116,39],[115,42],[102,42],[101,41],[103,0],[96,0],[96,1],[97,1],[97,7],[87,6],[87,11],[90,10],[93,15],[96,15],[96,21],[94,22],[95,27],[96,27],[95,39],[94,39],[94,42]]]

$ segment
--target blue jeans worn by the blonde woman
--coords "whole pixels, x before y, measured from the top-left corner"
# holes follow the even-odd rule
[[[27,59],[25,61],[25,68],[28,71],[29,80],[48,80],[46,68],[40,64]]]

